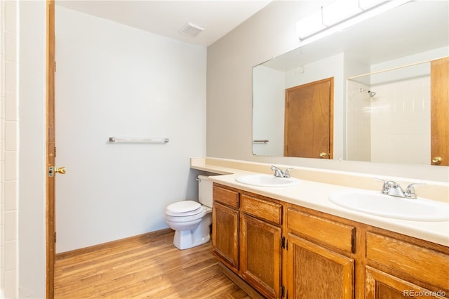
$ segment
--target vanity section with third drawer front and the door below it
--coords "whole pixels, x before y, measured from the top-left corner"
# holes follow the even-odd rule
[[[288,298],[354,298],[356,228],[287,210]]]

